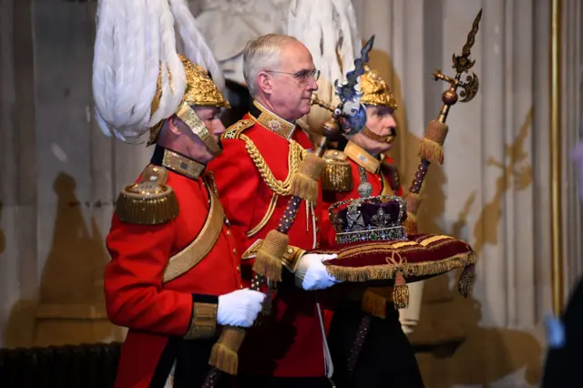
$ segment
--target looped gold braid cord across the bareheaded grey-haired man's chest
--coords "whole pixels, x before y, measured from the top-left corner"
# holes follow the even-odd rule
[[[290,140],[290,152],[288,153],[289,172],[287,178],[281,181],[275,179],[267,162],[261,156],[261,152],[257,146],[255,146],[251,138],[242,134],[240,135],[240,138],[245,141],[245,148],[247,148],[251,160],[255,163],[255,167],[259,169],[261,178],[265,181],[265,184],[267,184],[275,194],[289,197],[292,194],[292,179],[300,169],[302,159],[307,155],[308,151],[303,149],[297,142]]]

